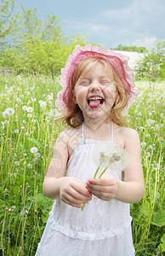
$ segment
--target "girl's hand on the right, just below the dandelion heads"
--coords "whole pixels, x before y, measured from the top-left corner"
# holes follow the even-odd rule
[[[103,175],[101,178],[90,178],[87,182],[89,192],[105,201],[115,198],[118,188],[117,178],[109,175]]]

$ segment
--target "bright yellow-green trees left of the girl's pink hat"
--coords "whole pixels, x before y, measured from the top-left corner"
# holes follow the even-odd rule
[[[65,38],[55,15],[38,19],[37,9],[21,7],[15,26],[12,47],[0,52],[0,66],[13,68],[16,74],[45,74],[54,79],[75,46],[85,44],[81,34]]]

